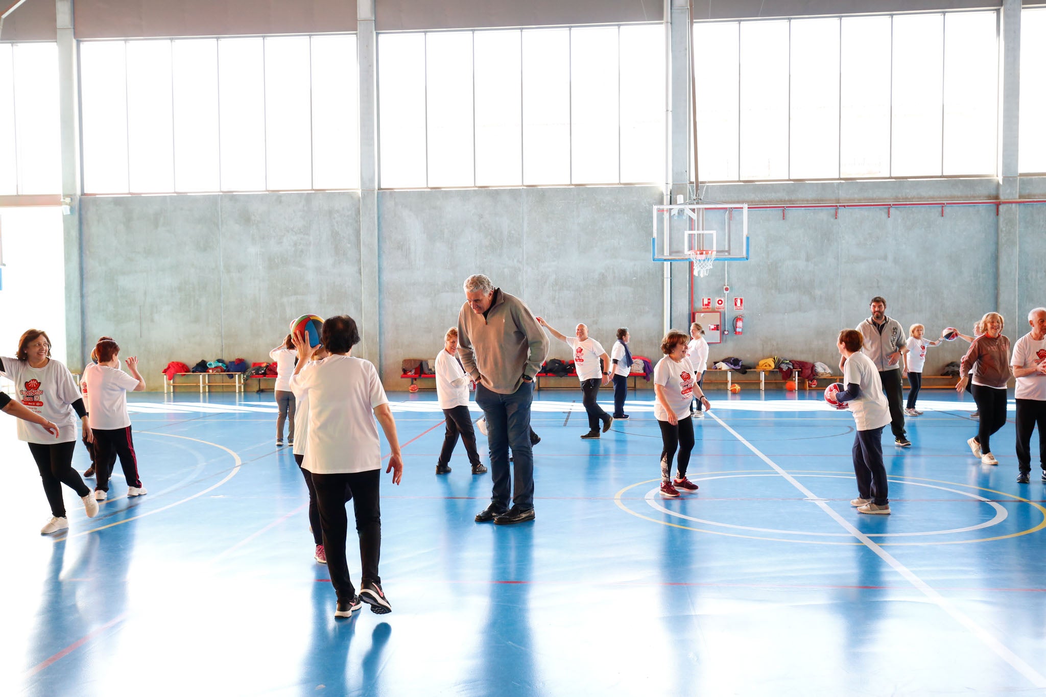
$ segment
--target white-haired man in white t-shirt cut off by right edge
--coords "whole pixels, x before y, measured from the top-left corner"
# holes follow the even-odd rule
[[[1028,312],[1031,331],[1017,340],[1009,365],[1017,378],[1017,481],[1031,474],[1031,432],[1039,426],[1039,461],[1046,482],[1046,307]]]

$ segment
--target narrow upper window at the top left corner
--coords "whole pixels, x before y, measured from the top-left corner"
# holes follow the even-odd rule
[[[58,46],[0,44],[0,194],[62,190]]]

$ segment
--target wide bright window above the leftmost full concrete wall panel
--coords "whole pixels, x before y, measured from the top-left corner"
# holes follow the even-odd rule
[[[346,34],[85,42],[84,190],[358,186],[355,66]]]

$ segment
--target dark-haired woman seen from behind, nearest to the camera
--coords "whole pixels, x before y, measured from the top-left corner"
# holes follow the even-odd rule
[[[301,333],[294,334],[292,340],[297,348],[298,365],[291,377],[291,389],[309,399],[309,441],[301,467],[312,474],[316,490],[323,551],[331,583],[338,595],[335,617],[350,617],[361,603],[384,614],[391,611],[392,606],[385,598],[378,575],[382,544],[379,505],[382,455],[374,417],[391,449],[385,471],[392,472],[393,484],[400,484],[403,477],[395,420],[385,389],[373,364],[349,355],[353,346],[360,342],[360,333],[356,321],[347,315],[332,317],[323,323],[320,342],[329,355],[309,370],[302,369],[319,347],[310,346]],[[359,595],[349,578],[345,559],[348,528],[345,499],[348,493],[353,498],[363,566]]]

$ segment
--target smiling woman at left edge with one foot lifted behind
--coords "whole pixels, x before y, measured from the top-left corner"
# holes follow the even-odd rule
[[[29,445],[40,470],[44,494],[51,507],[51,519],[40,533],[47,535],[69,527],[62,499],[63,484],[76,492],[87,517],[93,518],[98,512],[98,502],[72,468],[72,454],[76,446],[73,413],[79,416],[88,442],[93,440],[91,424],[72,373],[51,357],[51,341],[47,332],[29,329],[23,333],[16,356],[0,357],[0,375],[15,384],[16,396],[23,406],[59,427],[59,437],[54,438],[44,426],[28,421],[18,422],[18,439]]]

